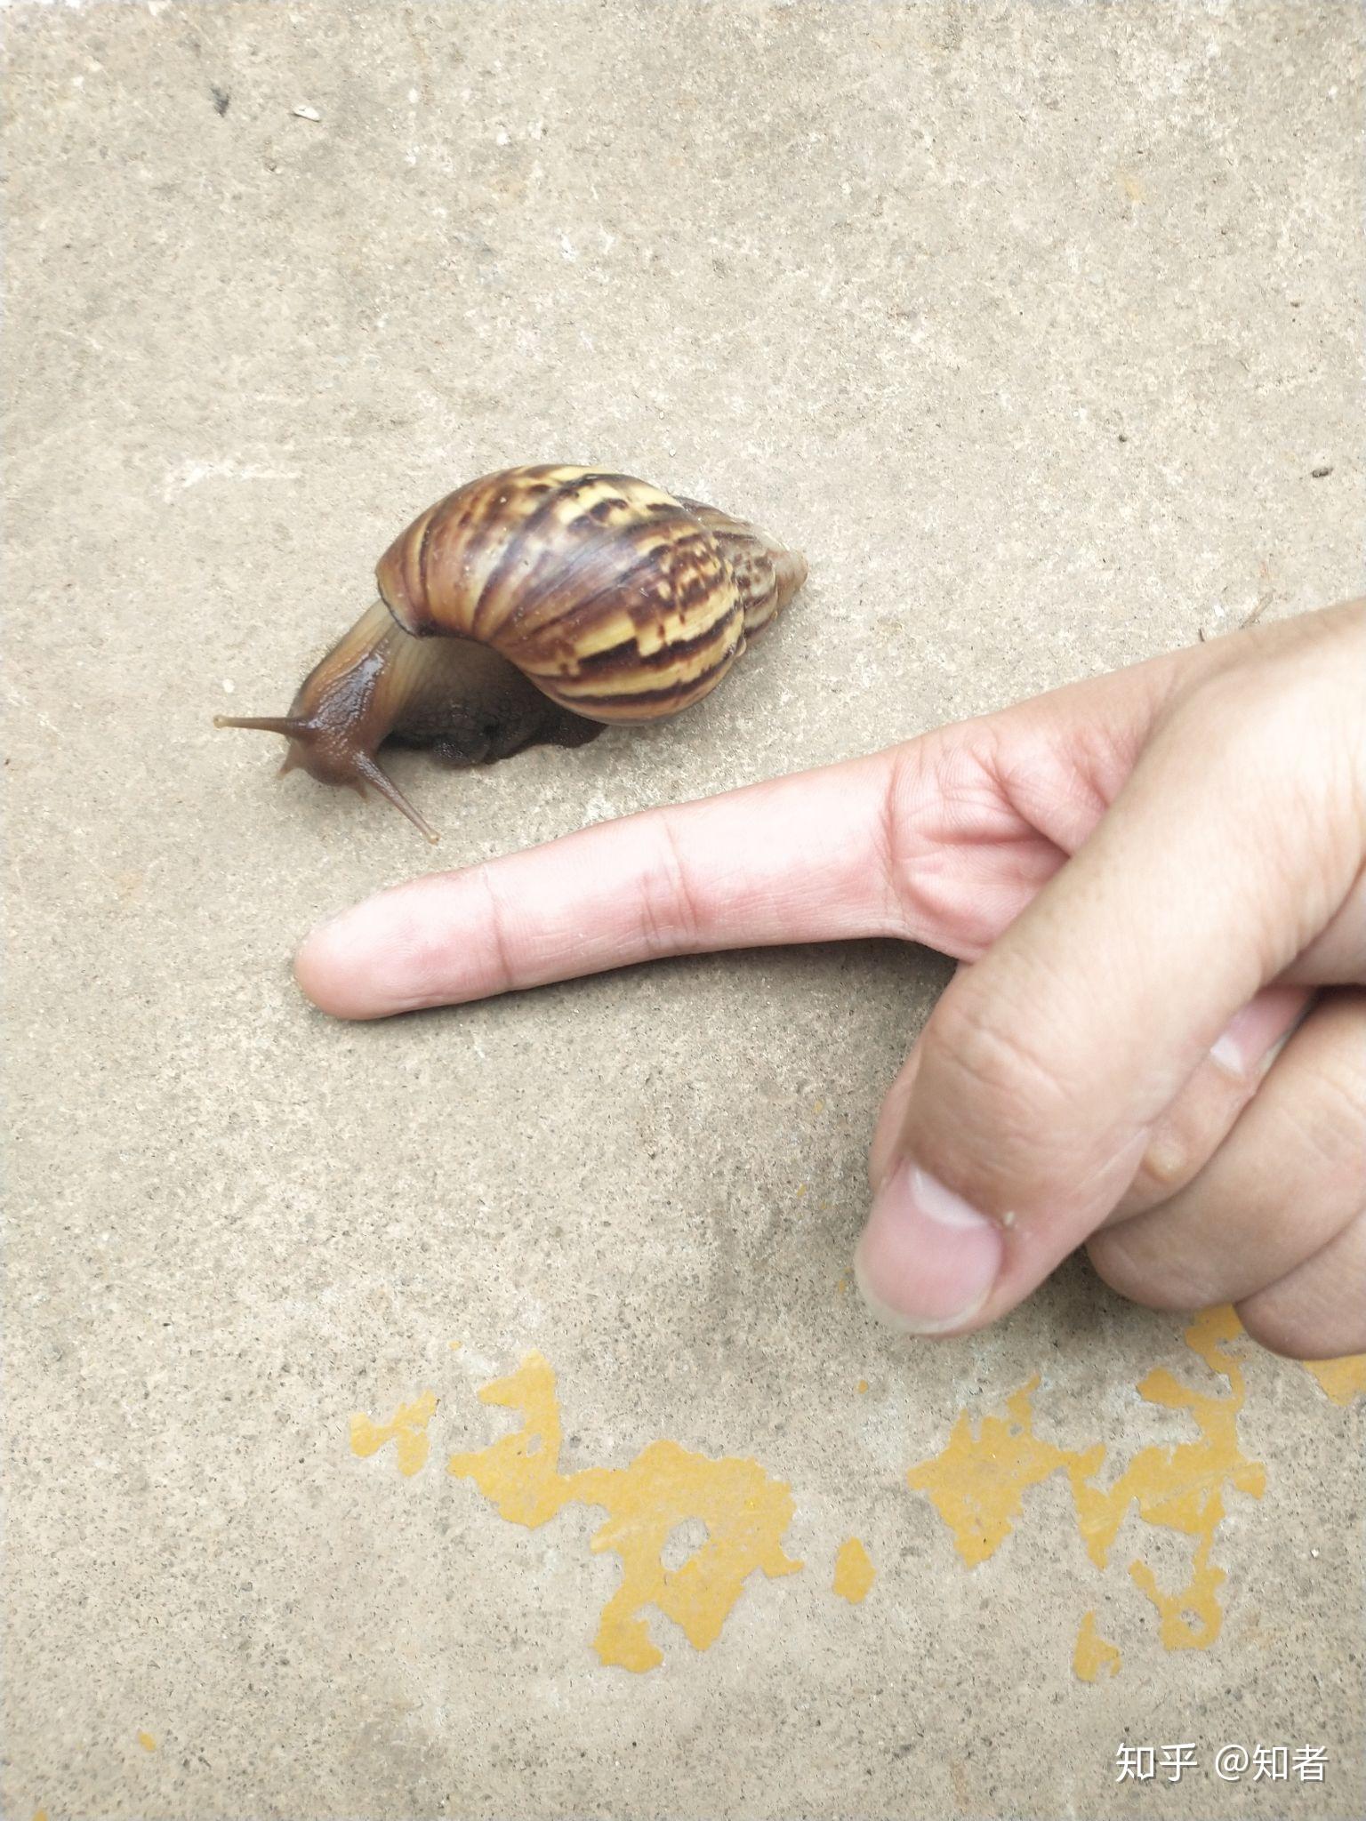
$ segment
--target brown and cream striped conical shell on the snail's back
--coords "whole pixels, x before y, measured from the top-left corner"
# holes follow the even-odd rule
[[[448,493],[375,574],[417,637],[490,645],[592,721],[654,721],[716,688],[805,563],[645,481],[546,464]]]

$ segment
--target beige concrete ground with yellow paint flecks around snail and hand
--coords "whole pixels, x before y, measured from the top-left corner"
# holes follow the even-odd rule
[[[676,725],[401,759],[443,865],[1361,590],[1361,9],[5,25],[4,1814],[1361,1816],[1361,1373],[847,1286],[947,963],[330,1023],[295,940],[430,856],[209,725],[514,461],[810,583]]]

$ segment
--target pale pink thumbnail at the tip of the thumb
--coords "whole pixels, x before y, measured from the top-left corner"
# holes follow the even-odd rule
[[[991,1295],[1005,1240],[994,1220],[902,1162],[872,1200],[854,1251],[863,1302],[903,1335],[943,1335],[971,1322]]]

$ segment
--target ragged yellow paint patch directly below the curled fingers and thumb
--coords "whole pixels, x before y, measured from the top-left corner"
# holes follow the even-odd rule
[[[1186,1344],[1209,1371],[1228,1380],[1228,1395],[1198,1391],[1166,1369],[1142,1380],[1138,1395],[1164,1409],[1186,1411],[1198,1439],[1142,1448],[1109,1488],[1095,1484],[1104,1444],[1065,1450],[1035,1435],[1031,1395],[1038,1378],[1005,1400],[1007,1419],[984,1417],[976,1435],[963,1411],[943,1453],[912,1468],[907,1480],[929,1495],[969,1568],[993,1555],[1011,1533],[1024,1493],[1058,1470],[1067,1473],[1082,1541],[1096,1568],[1106,1568],[1120,1524],[1129,1506],[1137,1506],[1146,1524],[1175,1530],[1195,1542],[1189,1579],[1177,1593],[1162,1592],[1147,1562],[1129,1564],[1135,1584],[1158,1612],[1162,1643],[1167,1650],[1208,1650],[1224,1623],[1218,1588],[1226,1575],[1211,1561],[1226,1515],[1224,1495],[1233,1490],[1260,1499],[1266,1491],[1266,1470],[1239,1444],[1246,1384],[1224,1344],[1240,1333],[1229,1307],[1206,1309],[1186,1329]]]

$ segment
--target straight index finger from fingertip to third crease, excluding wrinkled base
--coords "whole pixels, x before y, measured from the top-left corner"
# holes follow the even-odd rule
[[[311,931],[295,978],[322,1011],[384,1018],[665,954],[905,934],[896,772],[894,748],[410,880]]]

